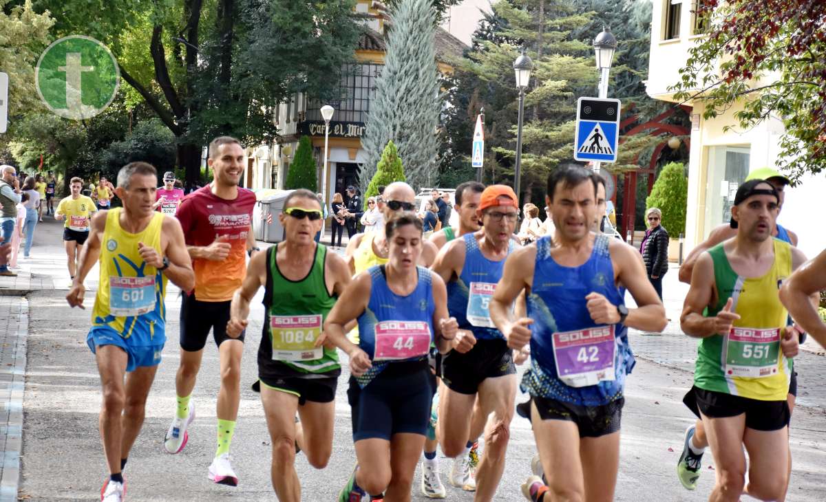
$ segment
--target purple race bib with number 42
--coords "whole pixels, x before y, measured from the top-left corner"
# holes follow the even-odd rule
[[[553,334],[553,358],[559,379],[572,387],[615,380],[614,325]]]

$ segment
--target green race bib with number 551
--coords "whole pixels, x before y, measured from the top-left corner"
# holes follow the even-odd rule
[[[727,376],[762,378],[777,374],[780,329],[732,328],[725,339]]]

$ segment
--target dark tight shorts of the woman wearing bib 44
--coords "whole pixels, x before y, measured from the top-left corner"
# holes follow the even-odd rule
[[[353,420],[353,441],[390,441],[396,433],[425,436],[433,380],[427,361],[391,362],[363,389],[350,376],[347,400]]]

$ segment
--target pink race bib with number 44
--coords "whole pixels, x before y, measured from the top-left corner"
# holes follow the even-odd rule
[[[382,320],[376,324],[373,361],[398,361],[427,355],[430,324],[420,320]]]

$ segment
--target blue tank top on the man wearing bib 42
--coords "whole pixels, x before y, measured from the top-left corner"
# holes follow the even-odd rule
[[[579,267],[563,267],[551,257],[551,239],[537,240],[534,286],[527,301],[528,317],[534,320],[530,326],[531,365],[521,383],[522,390],[530,395],[583,406],[606,405],[622,397],[625,375],[634,367],[628,329],[623,324],[594,323],[585,300],[593,291],[614,305],[624,303],[614,281],[609,242],[607,236],[596,234],[588,261]],[[599,339],[601,343],[587,344],[589,340]],[[586,344],[582,345],[583,342]],[[571,375],[576,374],[572,372],[573,365],[581,365],[577,371],[593,369],[595,362],[611,365],[610,357],[600,358],[611,352],[614,353],[613,380],[606,379],[610,378],[610,369],[603,369],[599,377],[593,373],[591,378],[598,381],[592,385],[568,385],[560,376],[563,372],[572,378]]]

